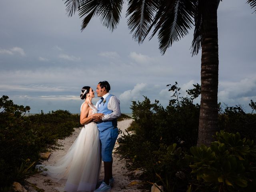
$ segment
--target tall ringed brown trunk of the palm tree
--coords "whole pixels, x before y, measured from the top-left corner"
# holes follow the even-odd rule
[[[210,146],[218,130],[218,0],[209,1],[202,41],[201,104],[197,145]]]

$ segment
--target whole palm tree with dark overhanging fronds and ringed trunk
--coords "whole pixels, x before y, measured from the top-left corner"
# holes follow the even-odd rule
[[[127,1],[126,17],[133,39],[140,44],[151,30],[150,39],[158,33],[162,54],[173,42],[186,36],[194,26],[192,56],[202,48],[198,145],[210,145],[212,135],[218,130],[217,9],[220,0]],[[123,0],[65,0],[69,16],[78,10],[79,16],[83,18],[81,30],[96,16],[100,17],[104,26],[113,31],[120,21],[123,3]],[[247,3],[256,9],[256,0],[247,0]]]

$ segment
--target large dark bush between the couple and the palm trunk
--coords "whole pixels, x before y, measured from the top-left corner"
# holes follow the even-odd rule
[[[144,171],[143,180],[164,185],[166,191],[186,191],[190,168],[185,154],[197,142],[200,106],[193,99],[200,86],[194,85],[185,98],[177,83],[170,90],[174,99],[166,109],[146,96],[132,102],[134,134],[118,139],[118,152],[128,159],[127,166]]]

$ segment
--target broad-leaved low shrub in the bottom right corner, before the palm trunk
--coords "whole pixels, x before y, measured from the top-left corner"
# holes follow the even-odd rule
[[[237,132],[216,132],[210,147],[191,147],[192,174],[199,181],[194,188],[209,192],[253,191],[256,182],[256,145]]]

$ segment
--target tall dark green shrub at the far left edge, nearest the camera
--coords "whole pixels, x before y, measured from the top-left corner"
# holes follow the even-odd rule
[[[38,158],[39,140],[24,116],[30,110],[28,106],[18,106],[8,96],[2,96],[0,109],[0,186],[6,186],[14,181],[15,166],[21,164],[21,158]]]

